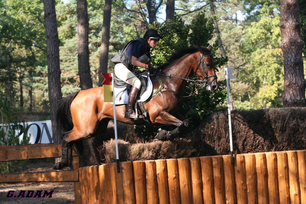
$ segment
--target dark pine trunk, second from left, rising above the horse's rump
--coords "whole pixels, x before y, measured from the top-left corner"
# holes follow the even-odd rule
[[[89,49],[88,49],[88,13],[87,1],[77,0],[77,33],[78,33],[78,68],[80,76],[81,89],[92,88],[89,66]]]

